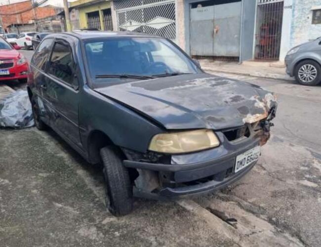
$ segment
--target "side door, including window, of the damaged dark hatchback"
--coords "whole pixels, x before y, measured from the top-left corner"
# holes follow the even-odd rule
[[[78,107],[78,65],[68,41],[57,39],[46,71],[43,97],[50,108],[51,125],[63,137],[81,148]]]

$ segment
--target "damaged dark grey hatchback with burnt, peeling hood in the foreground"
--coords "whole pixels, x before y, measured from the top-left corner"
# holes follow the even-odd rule
[[[38,129],[103,164],[107,207],[134,196],[211,192],[246,174],[270,137],[277,102],[259,86],[204,73],[172,41],[133,33],[47,36],[31,61]]]

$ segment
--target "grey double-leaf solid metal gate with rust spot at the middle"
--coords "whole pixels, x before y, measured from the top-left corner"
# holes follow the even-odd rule
[[[192,56],[239,57],[241,1],[191,8]]]

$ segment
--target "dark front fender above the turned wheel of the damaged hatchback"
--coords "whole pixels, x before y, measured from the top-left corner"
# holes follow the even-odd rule
[[[80,92],[80,138],[88,150],[88,138],[94,130],[106,134],[117,146],[146,152],[152,137],[164,128],[133,110],[84,86]]]

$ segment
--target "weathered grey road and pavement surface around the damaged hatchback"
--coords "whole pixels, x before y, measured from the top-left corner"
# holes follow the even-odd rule
[[[2,129],[1,245],[321,246],[321,86],[222,76],[279,98],[272,138],[239,182],[176,202],[136,199],[133,213],[115,218],[104,206],[101,167],[52,131]]]

